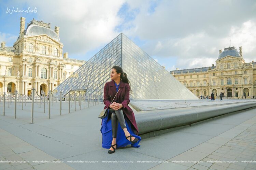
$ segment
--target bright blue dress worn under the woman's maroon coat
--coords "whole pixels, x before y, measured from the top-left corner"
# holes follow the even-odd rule
[[[115,83],[115,85],[116,85],[116,83]],[[116,85],[116,92],[118,91],[119,85],[120,85],[120,83],[118,85]],[[118,100],[116,100],[115,102],[118,103]],[[102,148],[106,148],[106,149],[109,149],[111,147],[111,143],[112,143],[112,139],[113,139],[111,118],[108,118],[108,117],[109,117],[109,109],[108,109],[108,113],[107,113],[106,117],[102,119],[102,125],[100,128],[100,132],[102,134]],[[127,140],[124,130],[121,128],[120,123],[118,121],[118,128],[117,128],[117,135],[116,135],[116,148],[125,147],[129,144],[131,144],[131,147],[139,148],[140,147],[139,142],[141,141],[141,137],[134,134],[134,132],[132,131],[132,128],[131,128],[130,120],[125,116],[125,114],[124,114],[124,117],[125,117],[125,124],[126,124],[127,131],[133,137],[136,137],[139,140],[136,143],[131,143],[129,140]]]

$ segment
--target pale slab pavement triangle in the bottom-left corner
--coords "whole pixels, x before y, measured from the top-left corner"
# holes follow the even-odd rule
[[[32,162],[32,160],[47,160],[48,163]],[[52,162],[50,162],[52,161]],[[35,148],[20,138],[0,129],[0,169],[67,169],[70,166],[62,163],[51,155]]]

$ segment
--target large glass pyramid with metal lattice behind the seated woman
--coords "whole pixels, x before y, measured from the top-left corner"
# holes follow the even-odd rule
[[[198,99],[123,33],[70,75],[53,94],[83,91],[86,95],[103,96],[115,65],[123,68],[131,83],[130,99]]]

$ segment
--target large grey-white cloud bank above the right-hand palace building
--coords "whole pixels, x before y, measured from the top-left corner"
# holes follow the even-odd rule
[[[130,21],[136,27],[123,32],[146,41],[142,49],[151,56],[176,58],[168,69],[211,66],[230,39],[238,50],[243,46],[246,62],[255,60],[256,1],[163,0],[150,15],[150,1],[138,6],[140,13]]]

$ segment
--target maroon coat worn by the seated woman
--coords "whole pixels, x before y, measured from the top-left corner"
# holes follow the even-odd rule
[[[111,104],[113,98],[115,97],[115,100],[113,102],[116,101],[116,99],[118,99],[119,103],[121,103],[123,105],[123,107],[121,108],[124,112],[124,114],[127,116],[127,118],[130,120],[131,124],[132,124],[132,128],[136,130],[136,135],[138,135],[139,130],[137,127],[137,123],[134,117],[134,113],[132,111],[132,109],[128,106],[128,104],[130,103],[130,99],[129,99],[129,92],[130,92],[130,86],[127,83],[124,83],[122,81],[120,81],[120,85],[119,85],[120,90],[118,91],[118,94],[116,95],[116,87],[115,87],[115,82],[114,80],[110,81],[110,82],[106,82],[105,86],[104,86],[104,104],[105,104],[105,108],[110,108],[109,105]],[[101,120],[101,125],[102,125],[102,120]]]

